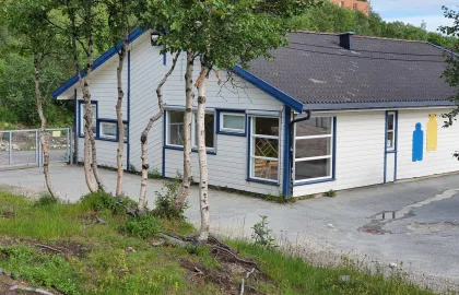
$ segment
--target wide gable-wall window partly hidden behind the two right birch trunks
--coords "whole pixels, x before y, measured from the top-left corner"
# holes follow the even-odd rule
[[[167,127],[166,127],[166,144],[169,146],[183,148],[185,142],[184,133],[184,113],[183,110],[168,110],[167,111]],[[193,149],[198,148],[198,117],[192,115],[191,120],[191,145]],[[213,113],[207,113],[204,117],[205,130],[205,148],[208,150],[215,149],[215,116]]]

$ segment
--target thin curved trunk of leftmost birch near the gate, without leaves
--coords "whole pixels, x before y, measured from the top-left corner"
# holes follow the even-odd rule
[[[46,118],[43,114],[43,99],[42,93],[39,91],[39,79],[40,79],[40,61],[36,55],[34,55],[34,68],[35,68],[35,96],[37,99],[37,111],[40,120],[40,129],[39,129],[39,142],[42,144],[43,151],[43,173],[45,174],[45,181],[46,187],[48,188],[49,194],[57,199],[57,194],[52,188],[51,178],[49,176],[49,149],[48,143],[45,139],[45,127],[46,127]]]

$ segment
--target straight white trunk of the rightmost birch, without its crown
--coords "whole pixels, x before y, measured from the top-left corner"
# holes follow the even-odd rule
[[[198,154],[199,154],[199,198],[201,208],[201,228],[198,241],[201,245],[209,238],[209,189],[208,189],[208,154],[205,149],[205,87],[209,79],[209,69],[201,67],[198,84]]]

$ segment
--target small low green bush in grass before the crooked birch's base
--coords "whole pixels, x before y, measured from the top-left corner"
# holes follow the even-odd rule
[[[130,236],[148,239],[158,232],[160,224],[152,214],[143,214],[137,217],[129,217],[119,229],[121,233]]]

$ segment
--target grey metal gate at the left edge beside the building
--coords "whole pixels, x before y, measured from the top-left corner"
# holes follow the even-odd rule
[[[39,129],[0,131],[0,168],[42,166]],[[70,128],[45,130],[50,163],[70,163],[72,134]]]

